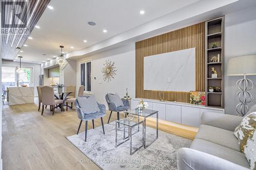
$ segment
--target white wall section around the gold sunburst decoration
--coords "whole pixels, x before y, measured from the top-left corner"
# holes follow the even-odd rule
[[[115,48],[77,61],[77,87],[79,87],[79,62],[92,60],[92,93],[99,103],[105,104],[106,93],[117,92],[122,98],[126,87],[131,98],[135,98],[135,43]],[[112,81],[104,81],[101,69],[106,60],[115,62],[117,75]],[[96,80],[94,79],[96,77]],[[106,107],[108,107],[106,105]]]

